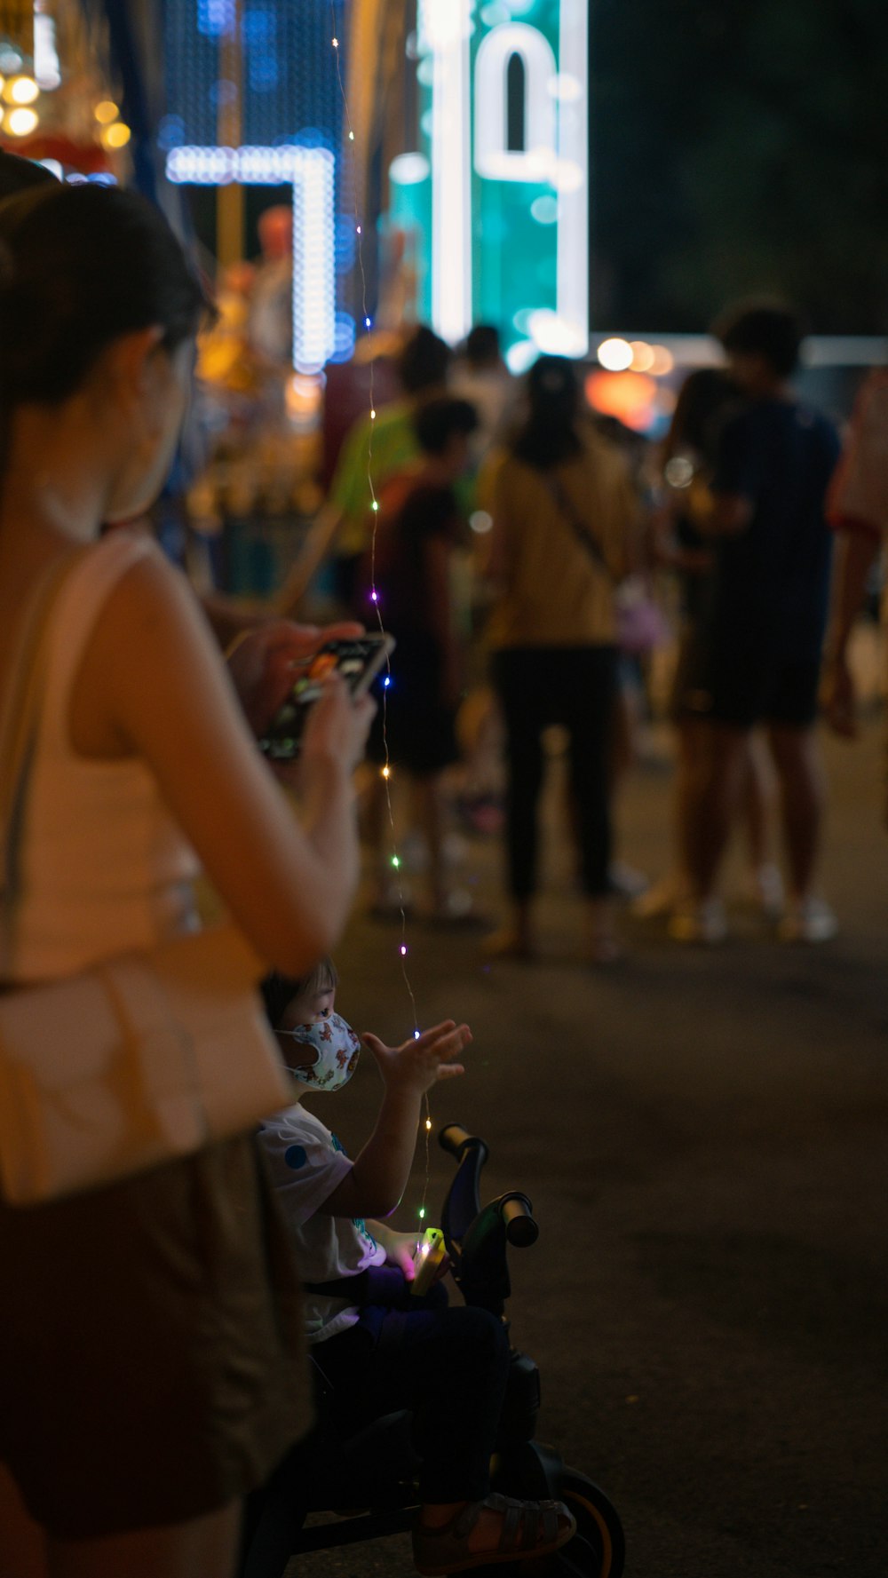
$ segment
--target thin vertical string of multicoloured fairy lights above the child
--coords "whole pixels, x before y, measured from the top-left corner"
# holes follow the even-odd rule
[[[352,115],[350,115],[350,110],[349,110],[349,95],[345,93],[345,84],[342,80],[342,57],[341,57],[341,49],[339,49],[339,27],[338,27],[338,17],[336,17],[336,0],[330,0],[330,22],[331,22],[331,39],[330,39],[330,43],[331,43],[333,55],[334,55],[334,60],[336,60],[336,80],[339,84],[339,93],[341,93],[341,98],[342,98],[342,115],[344,115],[345,134],[347,134],[345,140],[349,144],[349,153],[350,153],[352,207],[353,207],[353,215],[355,215],[356,262],[358,262],[358,276],[360,276],[360,281],[361,281],[361,319],[363,319],[364,331],[369,331],[372,328],[372,319],[371,319],[369,311],[368,311],[368,276],[366,276],[366,270],[364,270],[364,256],[363,256],[364,232],[363,232],[361,213],[360,213],[360,205],[358,205],[358,178],[356,178],[356,163],[355,163],[356,161],[355,129],[352,126]],[[369,358],[368,366],[369,366],[368,492],[369,492],[369,513],[371,513],[371,521],[372,521],[372,527],[371,527],[371,593],[369,595],[371,595],[371,603],[372,603],[372,609],[374,609],[374,614],[375,614],[375,620],[377,620],[380,634],[383,634],[385,633],[385,625],[383,625],[383,619],[382,619],[382,606],[380,606],[379,587],[377,587],[377,582],[375,582],[375,549],[377,549],[377,532],[379,532],[379,511],[380,511],[380,505],[379,505],[377,492],[375,492],[375,488],[374,488],[374,477],[372,477],[374,424],[375,424],[375,420],[377,420],[375,399],[374,399],[374,361],[372,361],[372,357]],[[402,866],[401,855],[397,852],[397,835],[396,835],[396,827],[394,827],[394,806],[393,806],[393,800],[391,800],[391,757],[390,757],[390,751],[388,751],[388,729],[386,729],[388,690],[390,690],[390,686],[391,686],[391,661],[386,661],[386,672],[385,672],[385,677],[383,677],[383,682],[382,682],[382,745],[383,745],[383,765],[380,767],[380,776],[382,776],[383,784],[385,784],[385,803],[386,803],[386,813],[388,813],[388,825],[390,825],[390,832],[391,832],[391,857],[390,858],[391,858],[391,869],[394,873],[394,884],[396,884],[396,892],[397,892],[397,911],[399,911],[399,915],[401,915],[401,942],[397,944],[397,956],[399,956],[399,964],[401,964],[401,975],[402,975],[404,985],[407,988],[407,996],[410,999],[410,1008],[412,1008],[412,1015],[413,1015],[413,1037],[418,1040],[421,1032],[420,1032],[420,1026],[416,1023],[416,1019],[418,1019],[418,1015],[416,1015],[416,997],[415,997],[413,986],[412,986],[412,982],[410,982],[410,974],[407,970],[409,945],[407,945],[407,904],[405,904],[405,898],[404,898],[404,879],[402,879],[402,869],[404,869],[404,866]],[[426,1108],[426,1116],[424,1116],[424,1120],[423,1120],[423,1133],[424,1133],[426,1172],[424,1172],[424,1184],[423,1184],[423,1199],[421,1199],[421,1204],[420,1204],[420,1209],[418,1209],[420,1221],[424,1221],[424,1218],[426,1218],[426,1201],[427,1201],[427,1193],[429,1193],[429,1176],[431,1176],[432,1112],[431,1112],[429,1094],[427,1092],[426,1092],[426,1097],[424,1097],[424,1108]]]

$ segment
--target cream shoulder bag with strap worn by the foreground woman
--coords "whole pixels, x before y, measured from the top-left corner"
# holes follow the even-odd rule
[[[80,552],[38,587],[0,723],[6,978],[47,626]],[[114,1184],[246,1133],[287,1106],[290,1083],[254,989],[263,970],[227,922],[0,994],[0,1191],[8,1204]]]

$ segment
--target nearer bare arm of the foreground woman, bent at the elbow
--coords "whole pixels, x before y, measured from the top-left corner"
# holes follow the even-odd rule
[[[260,759],[191,589],[159,552],[121,579],[76,677],[71,735],[144,757],[257,952],[298,975],[339,937],[358,877],[352,768],[371,709],[341,682],[312,709],[301,825]]]

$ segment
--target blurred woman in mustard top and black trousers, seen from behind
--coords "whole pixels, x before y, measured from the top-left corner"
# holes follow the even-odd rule
[[[637,500],[620,451],[582,420],[576,368],[541,357],[527,420],[492,483],[487,628],[506,727],[511,917],[492,953],[536,947],[543,731],[569,734],[571,787],[587,909],[585,956],[618,955],[610,899],[609,751],[617,690],[615,585],[631,567]]]

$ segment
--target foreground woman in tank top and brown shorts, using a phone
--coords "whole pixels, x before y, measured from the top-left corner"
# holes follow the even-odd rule
[[[0,207],[0,705],[35,595],[71,560],[43,636],[8,991],[192,929],[200,866],[292,974],[349,912],[372,707],[338,682],[317,704],[297,822],[189,587],[144,532],[104,530],[164,481],[203,309],[142,199],[52,186]],[[317,639],[260,642],[271,682],[241,649],[254,721]],[[0,1264],[2,1578],[224,1578],[240,1498],[311,1423],[295,1267],[251,1135],[0,1202]]]

